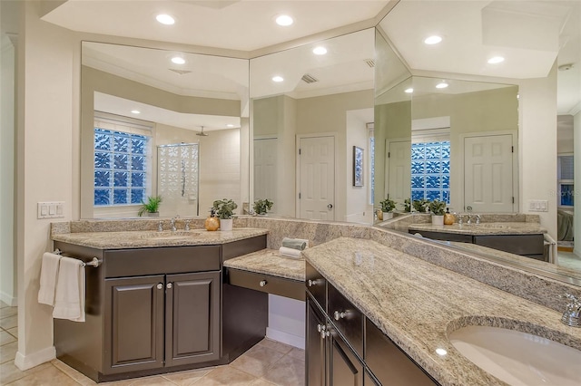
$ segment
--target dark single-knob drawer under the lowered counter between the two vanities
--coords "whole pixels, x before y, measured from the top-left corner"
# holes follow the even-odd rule
[[[304,285],[297,280],[228,268],[225,282],[229,285],[238,285],[267,294],[278,294],[292,299],[305,300]]]

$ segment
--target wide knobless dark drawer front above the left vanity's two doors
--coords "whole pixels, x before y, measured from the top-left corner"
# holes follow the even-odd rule
[[[105,252],[105,277],[220,270],[220,246],[118,249]]]

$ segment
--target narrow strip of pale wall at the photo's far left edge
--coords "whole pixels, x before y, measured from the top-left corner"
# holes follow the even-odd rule
[[[16,305],[14,250],[15,45],[2,35],[0,52],[0,300]]]

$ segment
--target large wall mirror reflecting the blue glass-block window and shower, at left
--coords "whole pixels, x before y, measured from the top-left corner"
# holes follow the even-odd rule
[[[81,217],[240,207],[248,188],[248,60],[84,42]]]

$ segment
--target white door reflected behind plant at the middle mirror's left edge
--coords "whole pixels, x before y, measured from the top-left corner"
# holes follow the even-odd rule
[[[268,198],[274,205],[278,202],[277,142],[276,138],[254,140],[254,199]]]

